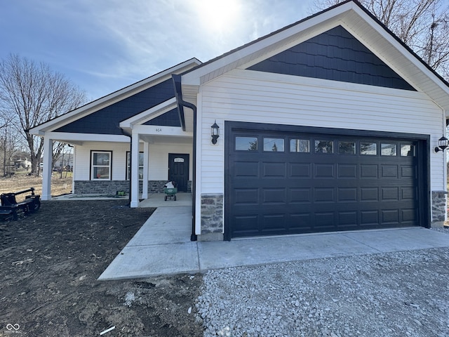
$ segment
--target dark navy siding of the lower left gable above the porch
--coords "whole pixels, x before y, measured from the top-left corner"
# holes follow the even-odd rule
[[[140,91],[140,93],[136,93],[86,117],[62,126],[55,131],[120,135],[119,124],[121,121],[173,97],[175,97],[175,91],[170,78],[160,84],[156,84],[156,86],[147,88],[144,91]]]

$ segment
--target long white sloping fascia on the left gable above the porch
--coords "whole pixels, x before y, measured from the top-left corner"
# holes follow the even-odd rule
[[[51,121],[47,121],[46,123],[31,128],[29,132],[32,133],[33,135],[39,135],[42,134],[43,132],[51,131],[60,126],[69,124],[72,121],[76,121],[77,119],[85,117],[88,114],[91,114],[95,111],[102,109],[103,107],[112,105],[116,102],[119,102],[120,100],[123,100],[124,98],[128,98],[129,96],[134,95],[135,93],[138,93],[147,88],[155,86],[156,84],[166,81],[167,79],[170,79],[171,74],[175,72],[183,72],[185,70],[191,69],[192,67],[195,67],[196,65],[201,65],[201,62],[196,58],[192,58],[191,60],[182,62],[179,65],[175,65],[175,67],[163,70],[158,74],[154,74],[153,76],[148,77],[147,79],[143,79],[142,81],[138,81],[135,84],[126,86],[125,88],[122,88],[119,91],[110,93],[109,95],[99,98],[98,100],[94,100],[93,102],[83,105],[82,107],[72,110],[71,112],[62,114],[60,117],[56,117]]]

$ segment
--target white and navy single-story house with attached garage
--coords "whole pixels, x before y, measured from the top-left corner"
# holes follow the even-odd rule
[[[448,109],[449,84],[345,1],[32,133],[46,153],[75,146],[74,193],[126,189],[130,172],[137,207],[175,180],[192,240],[230,240],[441,223]]]

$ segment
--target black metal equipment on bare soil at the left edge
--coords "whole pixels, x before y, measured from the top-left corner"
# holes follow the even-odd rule
[[[24,201],[17,202],[15,196],[31,192],[31,194],[25,196]],[[34,213],[41,207],[41,196],[34,194],[34,187],[30,187],[28,190],[13,193],[2,193],[0,195],[0,217],[4,220],[17,220],[18,212],[23,212],[25,216],[29,213]]]

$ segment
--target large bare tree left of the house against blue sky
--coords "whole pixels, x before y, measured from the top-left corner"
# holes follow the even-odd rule
[[[38,172],[43,140],[29,129],[86,102],[86,93],[48,65],[11,54],[0,62],[0,111],[13,114],[13,125],[29,148],[32,173]]]

